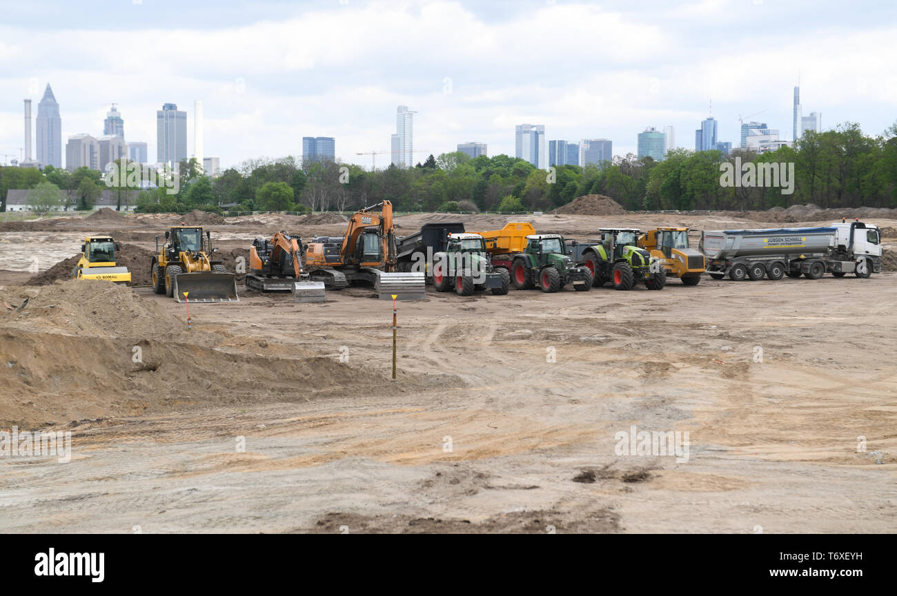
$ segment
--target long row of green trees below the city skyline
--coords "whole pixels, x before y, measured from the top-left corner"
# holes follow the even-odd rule
[[[779,186],[725,186],[725,162],[794,164],[793,192],[783,194]],[[214,178],[205,176],[196,160],[179,166],[178,192],[164,187],[143,191],[136,199],[139,211],[354,211],[388,199],[399,211],[524,212],[550,211],[583,194],[605,194],[632,211],[755,210],[796,203],[893,207],[897,123],[875,137],[856,124],[839,125],[806,133],[794,147],[759,155],[677,149],[662,161],[629,154],[584,168],[540,170],[507,155],[472,159],[460,151],[431,155],[414,168],[389,166],[373,172],[332,161],[301,163],[293,157],[247,160]],[[40,182],[76,190],[82,208],[108,186],[99,172],[88,168],[68,172],[48,167],[43,173],[0,168],[4,206],[7,189],[33,188]]]

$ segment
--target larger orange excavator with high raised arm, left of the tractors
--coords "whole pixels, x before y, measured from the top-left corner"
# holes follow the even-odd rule
[[[375,211],[379,209],[379,211]],[[392,203],[384,201],[355,212],[343,237],[312,238],[305,251],[311,281],[327,289],[350,283],[370,284],[379,298],[424,298],[423,272],[399,272]]]

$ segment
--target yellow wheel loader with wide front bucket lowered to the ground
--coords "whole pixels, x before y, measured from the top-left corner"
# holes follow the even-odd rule
[[[209,255],[218,252],[212,247],[211,234],[196,226],[173,226],[165,232],[161,248],[156,237],[156,255],[152,257],[152,288],[184,302],[231,302],[237,297],[237,277],[228,272],[221,261]]]

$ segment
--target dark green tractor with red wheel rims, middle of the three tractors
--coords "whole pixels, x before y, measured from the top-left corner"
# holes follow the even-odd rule
[[[592,288],[592,274],[570,258],[559,234],[527,236],[524,252],[511,255],[509,265],[515,289],[539,287],[544,292],[556,292],[568,283],[578,292]]]

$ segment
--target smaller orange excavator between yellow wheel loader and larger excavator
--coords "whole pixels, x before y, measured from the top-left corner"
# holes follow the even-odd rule
[[[249,247],[246,287],[262,292],[291,291],[296,302],[324,300],[324,284],[302,272],[302,239],[280,231],[256,238]],[[319,298],[319,299],[312,299]]]

